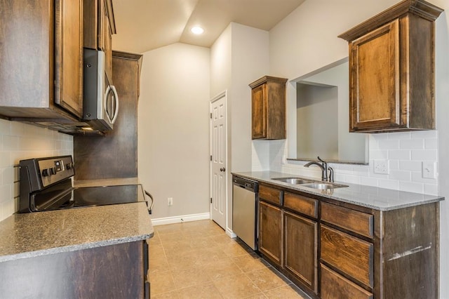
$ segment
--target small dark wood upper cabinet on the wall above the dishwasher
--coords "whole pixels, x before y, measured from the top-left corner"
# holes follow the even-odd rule
[[[265,76],[250,84],[253,139],[286,139],[286,82]]]

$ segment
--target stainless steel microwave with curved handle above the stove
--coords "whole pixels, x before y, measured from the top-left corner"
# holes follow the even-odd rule
[[[105,72],[105,52],[84,48],[83,59],[83,121],[94,130],[112,130],[119,114],[119,96]]]

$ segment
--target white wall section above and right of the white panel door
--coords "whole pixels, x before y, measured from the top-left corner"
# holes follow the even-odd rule
[[[251,82],[268,74],[269,34],[232,22],[210,52],[210,98],[228,91],[227,230],[232,230],[232,171],[250,171]]]

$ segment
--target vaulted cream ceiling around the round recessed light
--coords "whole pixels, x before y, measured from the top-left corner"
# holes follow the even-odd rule
[[[269,30],[305,0],[113,0],[112,48],[143,53],[177,42],[212,46],[229,25]],[[190,32],[200,25],[205,32]]]

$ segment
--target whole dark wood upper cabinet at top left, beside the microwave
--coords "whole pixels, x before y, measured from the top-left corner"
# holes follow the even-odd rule
[[[0,115],[78,121],[83,112],[82,1],[1,5]]]

